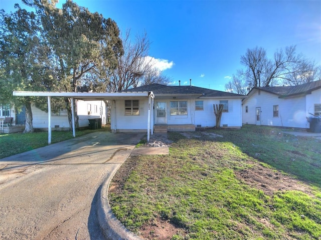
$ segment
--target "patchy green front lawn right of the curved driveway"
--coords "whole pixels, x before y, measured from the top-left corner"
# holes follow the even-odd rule
[[[321,141],[257,126],[207,132],[224,137],[171,133],[169,155],[134,156],[121,166],[109,201],[127,228],[139,234],[161,219],[179,229],[171,239],[321,238],[321,168],[313,166],[321,164]],[[251,168],[284,172],[310,192],[268,194],[237,177]],[[158,238],[151,231],[148,239]]]

